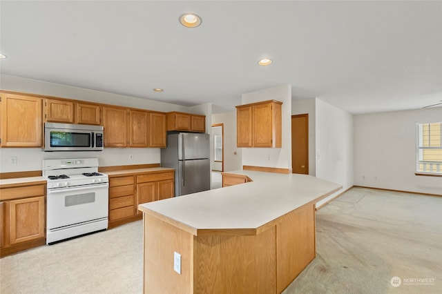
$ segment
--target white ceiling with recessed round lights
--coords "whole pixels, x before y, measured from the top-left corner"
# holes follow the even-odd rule
[[[184,12],[202,25],[181,26]],[[281,84],[353,114],[442,100],[442,1],[2,0],[0,13],[6,75],[218,112]]]

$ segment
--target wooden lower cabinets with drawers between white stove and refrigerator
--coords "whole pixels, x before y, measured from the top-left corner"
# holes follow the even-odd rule
[[[175,171],[109,177],[109,228],[142,219],[138,204],[175,195]]]

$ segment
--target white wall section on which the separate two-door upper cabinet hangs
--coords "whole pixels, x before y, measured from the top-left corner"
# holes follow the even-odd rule
[[[291,172],[291,86],[282,85],[241,96],[241,104],[266,100],[282,102],[282,147],[242,148],[242,165],[289,168]]]

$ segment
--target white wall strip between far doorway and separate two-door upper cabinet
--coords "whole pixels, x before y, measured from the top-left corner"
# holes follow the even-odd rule
[[[242,148],[236,147],[236,111],[212,115],[212,124],[224,124],[224,171],[242,169]]]

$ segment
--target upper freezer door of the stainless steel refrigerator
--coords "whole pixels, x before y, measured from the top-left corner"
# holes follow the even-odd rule
[[[209,134],[179,133],[178,159],[210,158]]]

